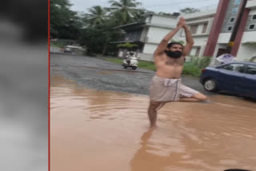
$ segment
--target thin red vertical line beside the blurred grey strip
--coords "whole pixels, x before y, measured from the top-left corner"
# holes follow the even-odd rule
[[[50,171],[50,0],[48,0],[48,170]]]

